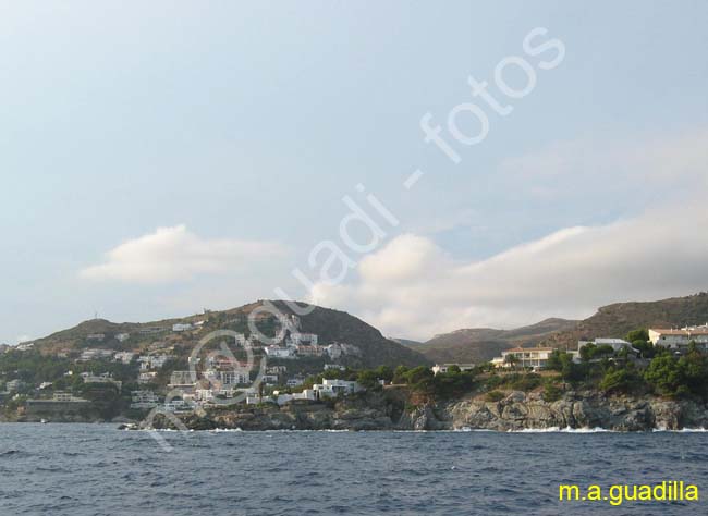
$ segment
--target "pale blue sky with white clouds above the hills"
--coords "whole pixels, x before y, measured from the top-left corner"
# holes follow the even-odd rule
[[[708,290],[704,1],[0,13],[0,343],[283,295],[426,340]]]

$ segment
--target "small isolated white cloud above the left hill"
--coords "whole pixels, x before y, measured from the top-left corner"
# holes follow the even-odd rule
[[[80,277],[133,283],[179,282],[198,274],[239,270],[247,260],[283,253],[276,243],[200,238],[185,225],[176,225],[158,228],[155,233],[120,244],[107,253],[105,262],[83,269]]]

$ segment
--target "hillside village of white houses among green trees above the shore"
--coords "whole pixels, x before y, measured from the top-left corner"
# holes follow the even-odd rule
[[[342,320],[357,321],[347,318],[338,328]],[[195,354],[202,339],[224,322],[232,331]],[[354,345],[332,339],[332,333],[322,337],[312,329],[305,331],[294,314],[263,319],[260,324],[269,329],[268,343],[233,330],[246,328],[243,314],[215,317],[207,311],[170,324],[133,327],[88,321],[77,327],[81,331],[4,347],[0,352],[0,404],[10,420],[61,421],[137,420],[155,411],[188,415],[223,407],[318,404],[396,385],[417,390],[423,400],[465,393],[492,400],[500,390],[520,388],[541,389],[552,398],[578,382],[589,385],[593,381],[608,392],[654,389],[654,383],[661,384],[654,373],[659,366],[679,367],[696,356],[704,366],[708,361],[708,323],[637,329],[623,337],[598,335],[578,341],[573,348],[549,345],[546,340],[504,349],[478,363],[430,367],[419,357],[417,364],[407,365],[369,363],[368,369],[363,341]],[[362,321],[356,324],[370,328]],[[391,341],[382,342],[386,346]],[[671,363],[664,364],[664,357]],[[700,374],[708,372],[704,369]],[[654,383],[645,383],[645,378]],[[704,380],[701,385],[708,384]],[[667,389],[664,394],[681,394],[679,388]]]

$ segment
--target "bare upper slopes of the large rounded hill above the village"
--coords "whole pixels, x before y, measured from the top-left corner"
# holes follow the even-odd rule
[[[187,355],[199,339],[209,331],[229,329],[246,335],[249,334],[247,316],[254,309],[261,307],[264,302],[252,303],[239,308],[223,311],[209,311],[204,315],[188,316],[179,319],[143,323],[114,323],[105,319],[94,319],[81,324],[53,333],[45,339],[35,341],[35,346],[44,354],[73,354],[85,348],[107,348],[113,351],[145,351],[155,345],[173,346],[179,354]],[[292,310],[283,302],[271,302],[285,316]],[[259,314],[258,328],[268,336],[274,335],[276,318],[267,312]],[[175,333],[173,324],[200,322],[203,325],[193,331]],[[315,333],[320,345],[344,343],[361,351],[346,358],[346,364],[356,367],[377,367],[388,365],[418,366],[429,361],[423,355],[405,346],[383,337],[374,327],[346,312],[329,308],[314,307],[312,314],[301,317],[302,332]],[[91,335],[103,335],[97,340]],[[119,341],[119,334],[130,337]]]

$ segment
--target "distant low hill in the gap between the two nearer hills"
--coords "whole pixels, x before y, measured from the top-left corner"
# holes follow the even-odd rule
[[[515,346],[535,345],[554,332],[574,328],[577,321],[547,319],[515,330],[465,329],[436,335],[412,347],[436,363],[479,363]]]

